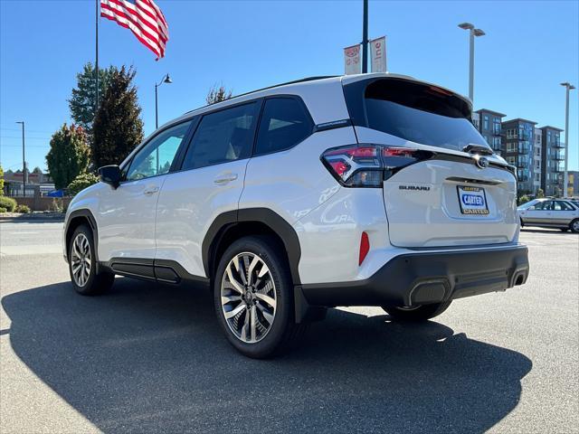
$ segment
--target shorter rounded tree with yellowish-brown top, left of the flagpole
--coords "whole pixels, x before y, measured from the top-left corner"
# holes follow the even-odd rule
[[[68,186],[79,174],[86,173],[90,165],[90,147],[84,129],[62,125],[52,135],[46,164],[57,189]]]

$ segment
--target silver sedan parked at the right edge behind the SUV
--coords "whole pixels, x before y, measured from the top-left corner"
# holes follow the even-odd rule
[[[517,208],[521,226],[579,232],[579,202],[566,199],[534,199]]]

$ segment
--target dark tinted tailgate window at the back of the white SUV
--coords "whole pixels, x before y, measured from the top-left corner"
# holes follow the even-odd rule
[[[489,147],[470,121],[469,104],[448,90],[398,79],[363,83],[364,88],[358,82],[345,87],[355,125],[458,151]]]

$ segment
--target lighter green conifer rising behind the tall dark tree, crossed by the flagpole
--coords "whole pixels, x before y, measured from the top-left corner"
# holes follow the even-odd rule
[[[109,68],[99,68],[99,99],[106,93],[109,87],[110,77],[113,71],[117,71],[114,66]],[[92,121],[94,120],[95,108],[97,107],[97,87],[96,74],[92,63],[88,62],[82,67],[82,72],[76,74],[76,88],[72,90],[69,109],[71,118],[76,125],[80,125],[89,134],[92,133]]]

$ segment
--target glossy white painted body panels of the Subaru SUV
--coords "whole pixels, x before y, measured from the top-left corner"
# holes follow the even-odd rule
[[[299,96],[315,124],[349,119],[343,83],[374,76],[406,78],[365,74],[283,85],[194,110],[166,126],[232,103],[273,95]],[[502,250],[518,245],[516,185],[508,171],[432,160],[404,168],[385,181],[382,189],[346,188],[329,174],[320,156],[330,147],[356,143],[470,157],[465,152],[416,144],[366,127],[340,127],[318,131],[299,145],[270,155],[123,183],[117,189],[108,184],[93,185],[74,198],[67,219],[71,212],[82,209],[93,214],[99,228],[101,261],[115,257],[169,259],[192,275],[206,277],[202,243],[215,218],[237,209],[267,208],[297,232],[303,284],[369,278],[390,259],[416,252],[415,248],[421,252]],[[505,164],[500,156],[488,158]],[[215,184],[215,178],[223,175],[235,178]],[[489,189],[489,215],[461,215],[456,202],[456,185],[460,183],[449,181],[449,177],[491,183],[482,185]],[[425,185],[430,190],[401,193],[403,184]],[[145,194],[151,189],[157,191]],[[363,231],[371,249],[359,265]]]

